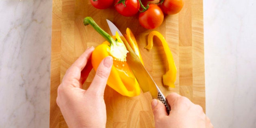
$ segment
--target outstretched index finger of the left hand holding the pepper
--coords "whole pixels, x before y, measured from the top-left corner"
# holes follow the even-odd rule
[[[91,56],[91,53],[93,52],[94,48],[88,48],[85,50],[85,52],[67,69],[64,77],[63,82],[72,82],[72,85],[75,87],[79,87],[80,83],[73,83],[74,81],[80,82],[81,77],[81,71],[87,64],[88,59]],[[67,84],[68,85],[68,84]]]

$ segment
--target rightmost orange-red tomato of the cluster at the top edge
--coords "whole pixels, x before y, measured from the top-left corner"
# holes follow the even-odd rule
[[[165,14],[172,15],[180,12],[183,5],[183,0],[164,0],[160,7]]]

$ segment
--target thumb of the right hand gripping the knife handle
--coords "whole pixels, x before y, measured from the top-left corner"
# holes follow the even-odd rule
[[[158,120],[161,117],[168,115],[166,112],[165,105],[160,100],[153,99],[151,102],[151,107],[152,107],[155,120]]]

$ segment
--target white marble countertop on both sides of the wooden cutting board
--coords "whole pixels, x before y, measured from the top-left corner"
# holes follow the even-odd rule
[[[52,0],[0,0],[0,128],[47,128]],[[256,128],[256,1],[204,0],[206,115]]]

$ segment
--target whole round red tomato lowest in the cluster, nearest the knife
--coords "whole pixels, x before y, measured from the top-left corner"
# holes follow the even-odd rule
[[[154,29],[163,23],[164,15],[156,4],[149,4],[149,9],[139,13],[139,24],[147,29]]]

